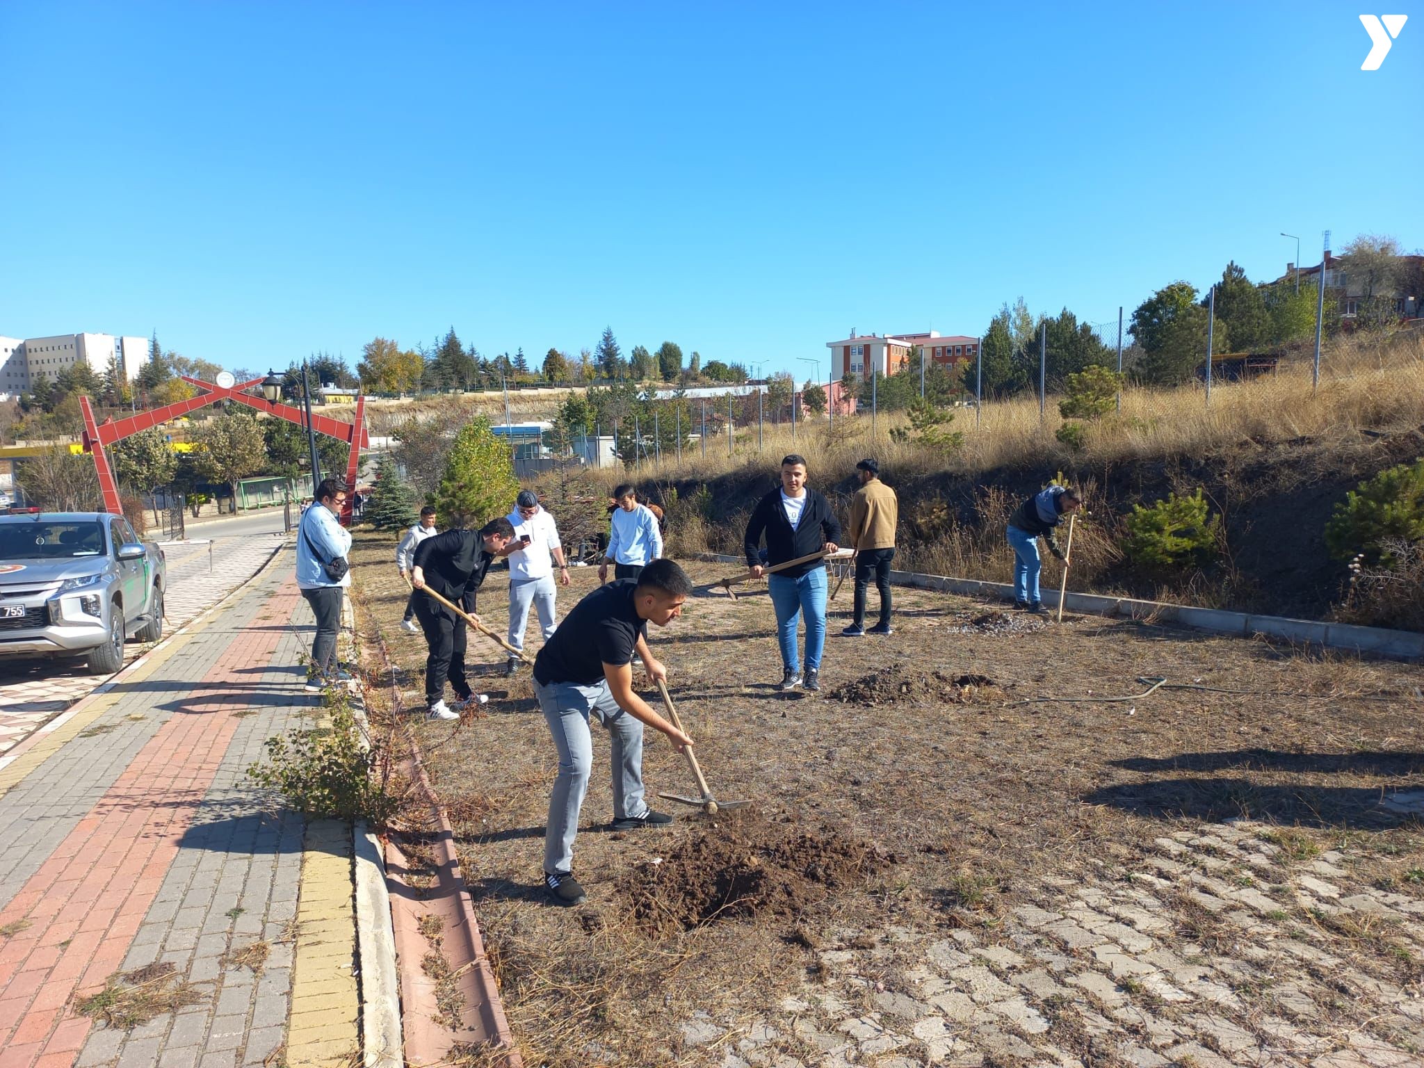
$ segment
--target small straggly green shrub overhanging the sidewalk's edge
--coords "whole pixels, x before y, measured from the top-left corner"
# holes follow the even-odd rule
[[[328,698],[330,726],[292,729],[266,740],[268,763],[248,775],[278,790],[292,807],[313,817],[365,819],[382,826],[396,799],[372,776],[377,749],[362,746],[360,726],[345,693]]]

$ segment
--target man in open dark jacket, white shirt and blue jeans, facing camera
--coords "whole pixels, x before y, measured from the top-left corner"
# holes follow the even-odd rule
[[[766,535],[766,565],[760,553]],[[806,457],[790,454],[782,460],[782,484],[762,497],[746,524],[746,562],[758,578],[766,567],[812,553],[834,553],[840,541],[840,523],[830,504],[806,486]],[[796,625],[806,617],[806,689],[820,689],[820,654],[826,645],[826,564],[812,560],[778,571],[766,578],[776,609],[776,641],[782,648],[782,681],[778,689],[802,685],[802,665],[796,649]]]

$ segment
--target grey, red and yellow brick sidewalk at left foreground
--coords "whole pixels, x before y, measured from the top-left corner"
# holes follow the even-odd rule
[[[306,826],[245,776],[266,738],[318,711],[300,689],[309,625],[283,553],[9,755],[0,1068],[269,1062],[288,1042],[293,963],[306,1011],[286,1062],[359,1048],[350,833]],[[80,997],[152,964],[194,984],[194,1002],[132,1030],[75,1012]]]

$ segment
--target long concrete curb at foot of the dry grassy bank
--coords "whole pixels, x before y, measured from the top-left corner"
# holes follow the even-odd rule
[[[698,554],[698,560],[719,564],[742,564],[742,557],[718,553]],[[1014,600],[1014,587],[1008,582],[985,582],[975,578],[950,578],[947,575],[924,575],[917,571],[891,571],[891,585],[916,590],[936,590],[946,594],[968,597],[994,597],[1002,601]],[[1058,607],[1058,591],[1045,590],[1044,604]],[[1131,597],[1102,597],[1099,594],[1068,594],[1064,608],[1074,612],[1106,615],[1111,618],[1151,619],[1172,622],[1198,631],[1232,634],[1239,638],[1265,635],[1290,642],[1321,645],[1330,649],[1370,652],[1396,659],[1424,659],[1424,634],[1413,631],[1390,631],[1381,627],[1356,627],[1354,624],[1320,622],[1316,619],[1290,619],[1282,615],[1253,615],[1230,612],[1223,608],[1196,608],[1168,601],[1139,601]]]

